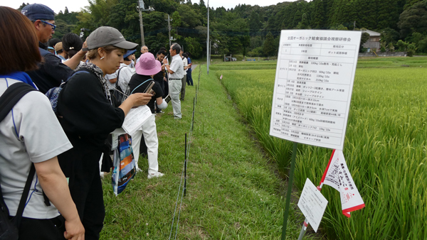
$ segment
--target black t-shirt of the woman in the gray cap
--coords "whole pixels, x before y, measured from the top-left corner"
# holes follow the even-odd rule
[[[58,97],[60,124],[67,136],[78,136],[88,147],[104,146],[109,133],[122,126],[125,113],[112,107],[94,72],[78,72],[65,84]]]

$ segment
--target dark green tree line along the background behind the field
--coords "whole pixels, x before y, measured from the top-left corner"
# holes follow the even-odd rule
[[[89,0],[79,12],[65,8],[56,16],[54,37],[80,33],[81,28],[93,31],[112,26],[127,40],[140,44],[137,6],[137,0]],[[145,0],[144,6],[154,9],[142,12],[145,45],[150,50],[169,48],[169,14],[173,42],[183,45],[194,58],[206,54],[208,8],[204,0]],[[364,28],[381,33],[381,51],[427,53],[427,0],[298,0],[271,6],[210,7],[209,24],[211,54],[277,55],[282,29]]]

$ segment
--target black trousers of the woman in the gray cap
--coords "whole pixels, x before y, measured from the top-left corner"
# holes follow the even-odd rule
[[[71,197],[85,227],[85,239],[97,240],[104,225],[99,160],[102,149],[93,148],[80,139],[68,136],[73,148],[58,156],[60,167],[69,178]]]

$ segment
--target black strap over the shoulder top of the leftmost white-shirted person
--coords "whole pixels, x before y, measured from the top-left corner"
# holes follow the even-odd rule
[[[31,91],[36,91],[36,89],[25,82],[16,82],[15,84],[11,84],[11,86],[8,87],[0,97],[0,121],[3,121],[7,114],[9,114],[9,111],[11,111],[23,95]]]

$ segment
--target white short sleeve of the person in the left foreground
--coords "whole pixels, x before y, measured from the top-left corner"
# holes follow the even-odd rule
[[[28,92],[14,107],[16,131],[33,163],[49,160],[73,148],[51,102],[41,92]]]

